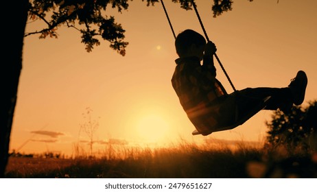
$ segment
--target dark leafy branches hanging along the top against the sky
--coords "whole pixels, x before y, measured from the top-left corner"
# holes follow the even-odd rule
[[[157,2],[158,0],[146,0],[148,6]],[[191,0],[172,0],[172,2],[180,3],[180,8],[191,10]],[[214,0],[211,8],[213,16],[232,10],[232,4],[233,0]],[[111,48],[125,56],[128,45],[124,40],[126,31],[120,23],[115,22],[114,16],[106,14],[109,6],[121,13],[122,10],[128,9],[129,4],[128,0],[30,0],[29,19],[42,20],[46,27],[40,31],[26,33],[25,36],[40,34],[39,38],[47,36],[57,38],[59,27],[73,27],[81,33],[86,51],[90,52],[94,46],[100,45],[98,37],[101,37],[110,42]]]

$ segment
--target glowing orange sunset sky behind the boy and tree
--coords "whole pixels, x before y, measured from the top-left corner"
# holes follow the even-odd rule
[[[287,86],[298,70],[304,70],[309,79],[305,102],[317,99],[317,1],[235,0],[233,10],[218,18],[212,16],[211,3],[197,1],[198,10],[235,88]],[[202,33],[195,12],[170,1],[165,6],[176,33],[187,28]],[[126,29],[130,44],[124,57],[104,41],[87,53],[80,34],[67,27],[58,30],[58,39],[25,38],[10,149],[73,153],[73,143],[88,139],[80,132],[86,107],[93,109],[94,119],[99,117],[95,133],[99,143],[262,140],[270,111],[259,112],[234,130],[192,136],[193,125],[170,82],[177,55],[161,4],[147,7],[132,1],[128,11],[111,13]],[[40,25],[28,23],[26,31]],[[215,65],[218,79],[231,93]]]

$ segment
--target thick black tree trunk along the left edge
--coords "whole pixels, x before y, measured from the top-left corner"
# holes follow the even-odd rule
[[[1,12],[1,46],[3,47],[0,70],[0,177],[5,176],[8,163],[10,133],[16,105],[19,77],[22,69],[23,36],[27,22],[28,0],[3,1]]]

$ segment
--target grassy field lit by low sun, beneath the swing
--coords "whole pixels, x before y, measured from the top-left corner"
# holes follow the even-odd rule
[[[317,178],[317,154],[283,147],[114,147],[102,156],[10,156],[7,178]]]

